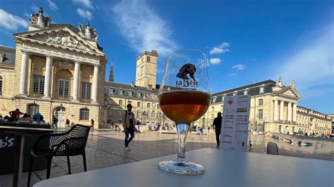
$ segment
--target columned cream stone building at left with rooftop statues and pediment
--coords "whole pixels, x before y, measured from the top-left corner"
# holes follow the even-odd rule
[[[51,24],[42,8],[32,14],[27,32],[16,33],[16,48],[0,47],[0,114],[15,108],[46,122],[52,115],[64,122],[103,127],[104,76],[107,58],[96,30]]]

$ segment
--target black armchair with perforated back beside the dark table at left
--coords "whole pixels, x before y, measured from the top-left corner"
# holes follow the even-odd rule
[[[65,133],[39,136],[30,152],[27,186],[30,186],[34,157],[47,157],[47,179],[50,178],[51,160],[54,156],[67,157],[68,174],[70,174],[70,156],[82,155],[85,172],[87,172],[85,146],[89,130],[89,126],[75,124]]]

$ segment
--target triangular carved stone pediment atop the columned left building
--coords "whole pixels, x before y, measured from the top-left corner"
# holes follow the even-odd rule
[[[23,37],[33,42],[40,41],[49,46],[63,46],[66,48],[103,54],[97,47],[89,44],[88,41],[85,41],[85,39],[78,34],[75,34],[75,32],[69,30],[67,27],[58,30],[36,30],[31,33],[18,35],[18,37]]]

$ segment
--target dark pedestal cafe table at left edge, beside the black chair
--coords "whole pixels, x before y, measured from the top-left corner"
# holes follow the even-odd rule
[[[54,131],[58,130],[31,128],[31,127],[0,126],[0,132],[14,134],[17,137],[15,142],[15,164],[14,164],[13,186],[21,186],[25,136],[53,133]]]

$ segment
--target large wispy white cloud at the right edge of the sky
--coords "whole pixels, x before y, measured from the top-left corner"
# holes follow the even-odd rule
[[[314,33],[314,32],[313,32]],[[276,67],[277,77],[295,79],[297,89],[305,93],[316,89],[334,88],[334,25],[314,36],[304,39],[297,51],[290,53]],[[274,67],[275,68],[275,67]],[[329,85],[328,85],[329,84]],[[326,86],[325,86],[326,85]],[[326,93],[324,93],[326,94]],[[323,95],[325,96],[325,95]]]

